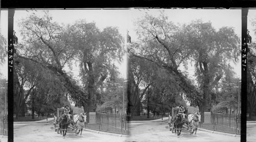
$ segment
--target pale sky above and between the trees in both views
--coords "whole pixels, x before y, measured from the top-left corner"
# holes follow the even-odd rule
[[[160,9],[113,9],[113,10],[50,10],[50,14],[53,16],[53,20],[59,23],[74,23],[79,19],[86,19],[88,22],[95,21],[98,28],[103,29],[107,26],[118,27],[119,32],[125,37],[126,31],[129,30],[130,36],[132,37],[132,42],[136,41],[136,31],[134,27],[134,21],[143,16],[145,13],[152,15],[159,15]],[[256,17],[256,10],[249,10],[248,21]],[[224,10],[224,9],[213,9],[213,10],[203,10],[203,9],[165,9],[166,16],[169,20],[172,20],[175,23],[189,23],[191,20],[202,19],[203,21],[211,21],[212,26],[215,29],[219,29],[223,26],[234,27],[235,32],[241,36],[241,10]],[[41,14],[41,10],[36,11],[26,11],[26,10],[16,10],[14,14],[14,30],[16,31],[17,37],[21,37],[19,34],[18,21],[25,18],[29,14]],[[249,22],[248,22],[249,23]],[[1,32],[7,37],[7,11],[1,11]],[[248,27],[250,30],[252,27]],[[250,30],[252,31],[252,30]],[[255,36],[252,35],[252,38],[255,39]],[[126,62],[119,66],[119,71],[121,76],[125,76]],[[2,71],[2,66],[1,72]],[[7,65],[5,65],[7,71]],[[241,78],[241,63],[233,65],[236,70],[237,77]],[[187,70],[189,76],[194,75],[194,68],[189,67]],[[74,75],[78,75],[78,68],[74,68]],[[7,77],[7,72],[3,73]]]

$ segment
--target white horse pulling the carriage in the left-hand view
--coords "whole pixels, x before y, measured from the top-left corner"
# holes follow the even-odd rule
[[[76,135],[79,134],[79,132],[81,131],[80,133],[80,136],[81,136],[84,123],[87,122],[86,120],[87,120],[87,113],[82,112],[80,114],[74,115],[75,127],[78,128],[78,132],[76,132],[77,130],[75,131]]]

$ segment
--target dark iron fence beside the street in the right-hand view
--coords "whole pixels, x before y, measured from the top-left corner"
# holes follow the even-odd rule
[[[201,114],[200,128],[240,135],[241,114],[210,114],[209,123],[205,123]]]

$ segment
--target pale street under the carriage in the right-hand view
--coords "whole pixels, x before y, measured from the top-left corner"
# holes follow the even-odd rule
[[[197,131],[197,137],[189,135],[188,130],[182,130],[181,136],[169,131],[167,121],[164,122],[147,122],[147,123],[131,123],[131,136],[127,141],[143,142],[143,141],[189,141],[189,142],[211,142],[211,141],[230,141],[240,142],[240,137],[214,134],[205,131]]]

